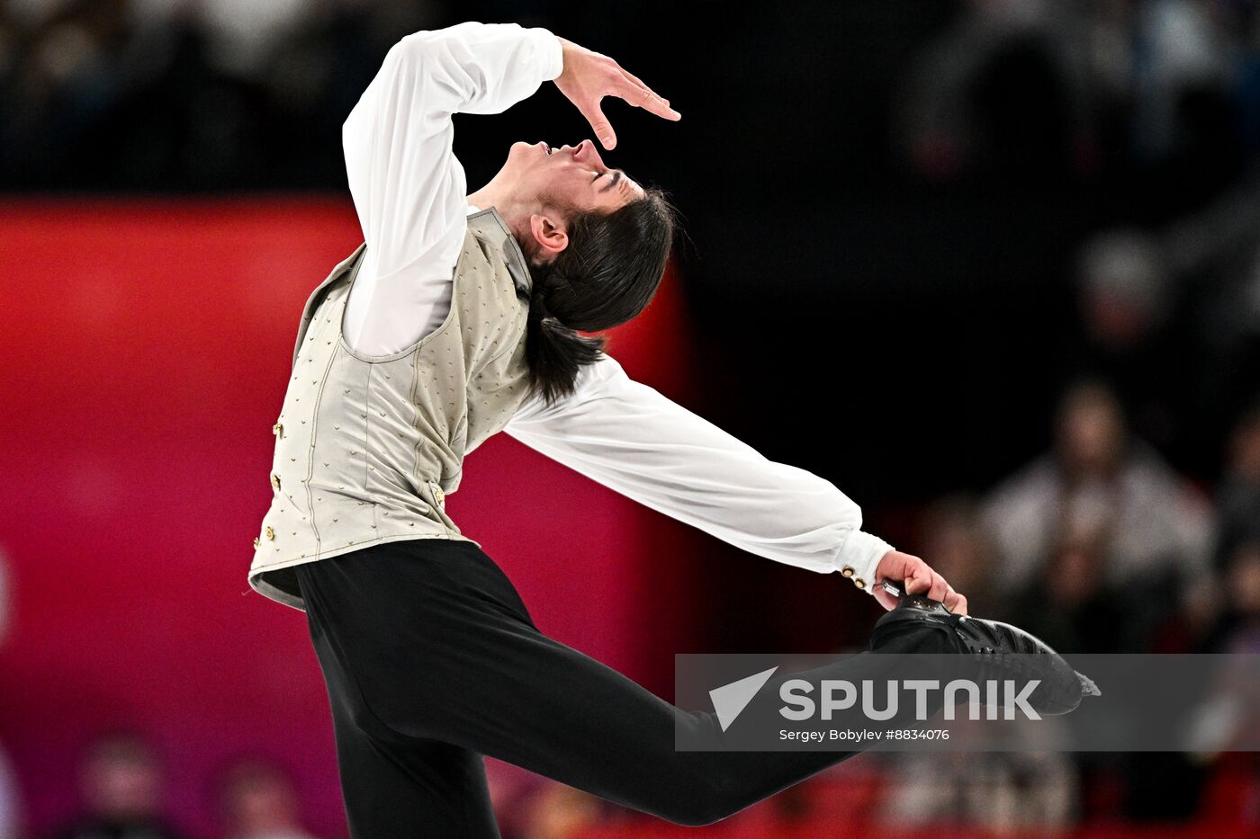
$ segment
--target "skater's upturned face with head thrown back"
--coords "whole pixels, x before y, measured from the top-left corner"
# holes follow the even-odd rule
[[[643,186],[605,165],[590,140],[558,149],[546,142],[514,142],[500,176],[539,209],[611,213],[644,197]]]

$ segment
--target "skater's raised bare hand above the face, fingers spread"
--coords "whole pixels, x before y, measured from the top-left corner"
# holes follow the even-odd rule
[[[634,107],[644,108],[665,120],[683,118],[682,113],[669,107],[669,100],[658,96],[639,77],[621,69],[621,66],[607,55],[591,52],[563,38],[558,40],[563,48],[564,69],[556,77],[556,87],[582,112],[605,149],[617,145],[617,135],[600,108],[605,96],[625,100]]]

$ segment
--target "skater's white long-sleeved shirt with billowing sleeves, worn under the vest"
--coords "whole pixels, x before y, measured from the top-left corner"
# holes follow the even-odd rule
[[[563,67],[546,29],[464,23],[403,38],[343,126],[350,194],[367,251],[345,340],[368,355],[415,344],[450,310],[466,233],[452,113],[499,113]],[[751,553],[874,582],[883,539],[829,481],[771,461],[630,379],[610,355],[572,396],[527,401],[505,431],[596,481]]]

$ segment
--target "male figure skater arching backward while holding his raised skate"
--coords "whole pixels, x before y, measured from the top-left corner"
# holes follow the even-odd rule
[[[713,714],[541,634],[444,506],[464,456],[498,431],[750,552],[839,571],[888,608],[876,581],[921,595],[882,619],[876,649],[953,653],[979,637],[966,600],[864,533],[835,486],[633,382],[580,334],[655,292],[674,223],[659,190],[585,140],[513,144],[466,191],[451,115],[503,111],[544,81],[605,149],[605,96],[679,118],[605,55],[465,23],[394,45],[344,125],[364,244],[306,304],[248,579],[307,615],[358,839],[498,835],[483,755],[683,824],[844,757],[678,752],[675,721],[712,729]]]

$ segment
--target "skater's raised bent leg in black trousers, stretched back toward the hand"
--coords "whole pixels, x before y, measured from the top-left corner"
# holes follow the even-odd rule
[[[312,619],[328,625],[367,705],[393,732],[679,824],[726,818],[853,753],[677,751],[675,724],[713,732],[716,716],[680,711],[544,636],[475,545],[360,554],[314,563],[304,593],[318,588]],[[830,665],[828,676],[872,678],[891,666],[879,658]]]

